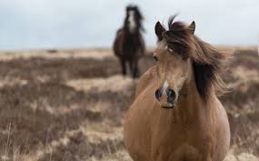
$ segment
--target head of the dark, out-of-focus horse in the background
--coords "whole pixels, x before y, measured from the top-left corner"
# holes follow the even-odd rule
[[[136,5],[128,5],[126,7],[125,27],[128,28],[130,33],[134,34],[139,28],[142,28],[142,20],[143,16]]]

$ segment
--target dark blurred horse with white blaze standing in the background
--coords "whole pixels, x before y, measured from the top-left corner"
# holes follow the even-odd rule
[[[114,43],[114,52],[121,63],[123,75],[126,75],[126,63],[129,64],[133,77],[139,75],[138,60],[144,55],[142,20],[143,16],[137,6],[126,7],[125,23],[117,31]]]

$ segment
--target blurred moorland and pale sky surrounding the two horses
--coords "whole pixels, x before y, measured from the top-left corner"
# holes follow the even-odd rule
[[[131,161],[123,117],[138,79],[121,75],[115,35],[126,5],[144,16],[140,75],[154,65],[154,25],[196,24],[195,35],[232,52],[220,97],[232,139],[225,161],[259,160],[257,0],[1,0],[0,160]]]

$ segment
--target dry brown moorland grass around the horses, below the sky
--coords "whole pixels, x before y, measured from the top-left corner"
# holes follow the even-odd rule
[[[224,50],[230,51],[224,47]],[[231,131],[226,161],[259,156],[259,59],[233,50],[221,99]],[[129,161],[122,136],[135,80],[120,75],[110,50],[48,50],[0,55],[0,160]],[[141,73],[154,65],[140,60]]]

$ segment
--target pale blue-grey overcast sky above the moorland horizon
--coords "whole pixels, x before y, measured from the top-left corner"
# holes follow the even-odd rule
[[[258,0],[0,0],[0,50],[111,46],[128,4],[144,15],[147,45],[175,13],[208,43],[259,44]]]

